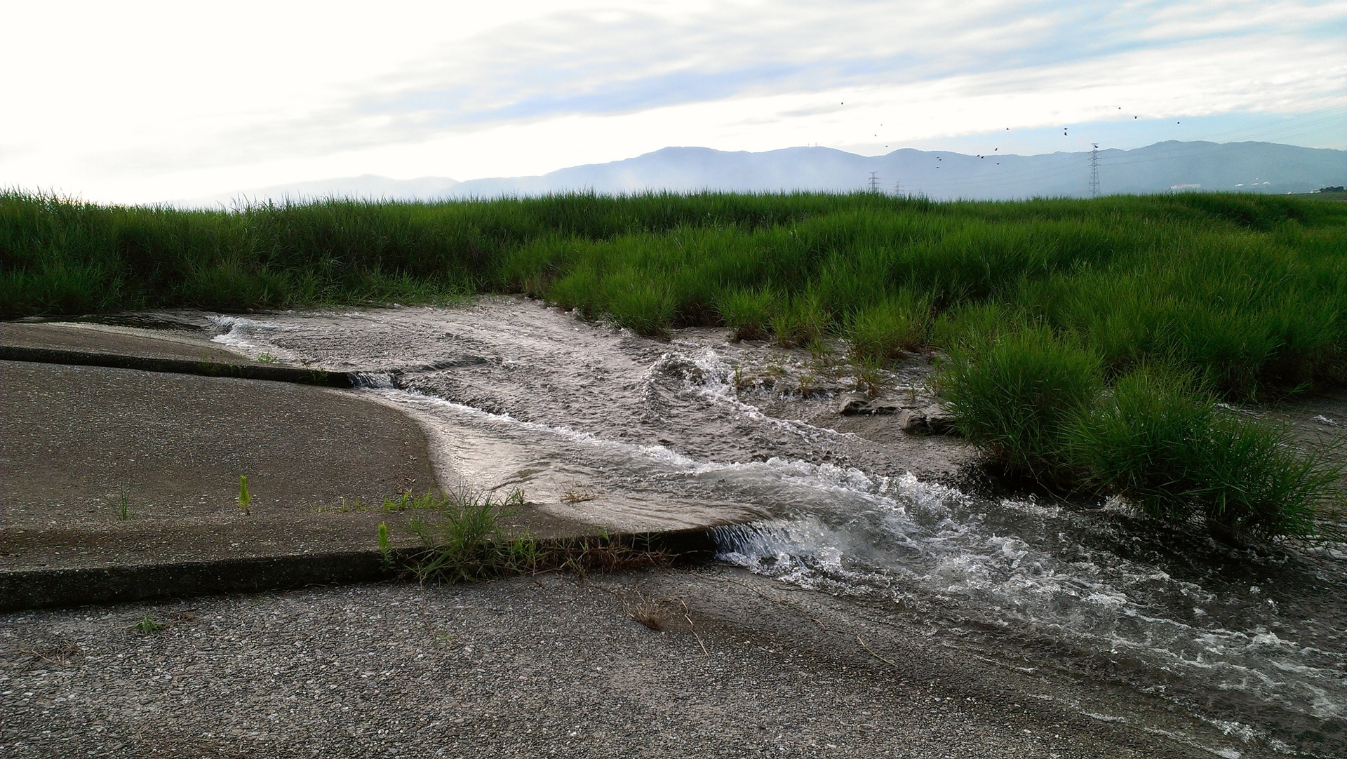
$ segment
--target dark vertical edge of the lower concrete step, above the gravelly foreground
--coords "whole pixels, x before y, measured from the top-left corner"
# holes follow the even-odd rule
[[[577,536],[543,540],[540,544],[544,549],[564,550],[622,545],[634,550],[664,552],[676,563],[706,561],[715,554],[711,528]],[[424,549],[393,550],[391,561],[385,561],[377,550],[352,550],[0,572],[0,612],[395,580],[401,573],[389,568],[389,564],[407,565],[422,550]]]

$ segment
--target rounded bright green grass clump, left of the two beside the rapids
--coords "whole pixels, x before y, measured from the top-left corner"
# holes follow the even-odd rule
[[[936,380],[955,427],[1008,472],[1063,479],[1065,432],[1100,389],[1099,359],[1045,327],[954,349]]]

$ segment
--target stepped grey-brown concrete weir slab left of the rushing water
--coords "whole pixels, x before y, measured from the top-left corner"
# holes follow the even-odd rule
[[[384,579],[379,523],[415,538],[383,499],[446,484],[418,423],[343,374],[74,324],[0,324],[0,610]],[[506,526],[601,537],[527,505]]]

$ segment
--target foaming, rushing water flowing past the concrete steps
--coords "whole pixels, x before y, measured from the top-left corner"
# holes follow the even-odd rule
[[[1250,748],[1347,755],[1347,546],[1237,550],[919,476],[912,451],[967,452],[849,432],[845,377],[723,331],[659,342],[517,299],[210,328],[354,373],[424,423],[446,479],[612,529],[726,525],[721,557],[753,572],[1161,694]]]

